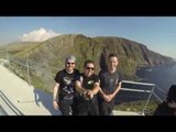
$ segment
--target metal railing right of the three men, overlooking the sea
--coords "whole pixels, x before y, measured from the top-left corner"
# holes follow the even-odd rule
[[[117,95],[117,106],[131,102],[140,102],[141,114],[146,114],[147,107],[151,101],[161,103],[166,98],[166,92],[157,87],[155,84],[136,82],[136,81],[122,81],[122,88]],[[130,105],[129,105],[130,106]],[[132,106],[134,108],[134,105]],[[128,109],[128,108],[127,108]]]

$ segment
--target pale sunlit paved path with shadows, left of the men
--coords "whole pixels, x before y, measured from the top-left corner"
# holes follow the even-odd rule
[[[29,84],[0,65],[0,105],[10,116],[59,116],[53,109],[52,95]]]

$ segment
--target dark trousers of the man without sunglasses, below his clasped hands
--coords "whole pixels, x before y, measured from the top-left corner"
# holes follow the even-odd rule
[[[112,116],[113,108],[114,108],[114,100],[112,100],[110,102],[99,100],[100,116]]]

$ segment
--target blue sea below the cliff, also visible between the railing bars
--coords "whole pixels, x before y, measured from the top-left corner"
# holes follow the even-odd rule
[[[161,92],[161,90],[155,88],[154,92],[160,97],[160,99],[165,100],[169,87],[172,85],[176,85],[176,64],[138,68],[136,75],[141,78],[141,82],[155,84],[160,89],[162,89]],[[152,88],[151,86],[136,86],[133,84],[122,84],[122,87],[142,90]],[[121,90],[116,97],[116,103],[144,100],[147,98],[148,94],[145,92]]]

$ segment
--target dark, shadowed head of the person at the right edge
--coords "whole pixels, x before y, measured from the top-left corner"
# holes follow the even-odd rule
[[[167,101],[175,101],[176,102],[176,85],[172,85],[170,88],[168,89],[167,94]]]

